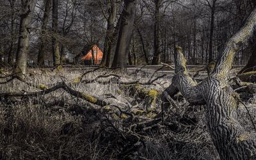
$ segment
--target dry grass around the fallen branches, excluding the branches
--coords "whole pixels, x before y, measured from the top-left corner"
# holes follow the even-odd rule
[[[30,70],[32,74],[27,81],[36,85],[59,81],[68,83],[84,71]],[[111,71],[92,72],[83,79],[93,79],[109,72]],[[141,72],[119,75],[122,81],[148,81],[151,74]],[[148,87],[163,91],[169,84],[170,76],[157,80],[156,86]],[[76,84],[72,88],[99,97],[111,93],[116,99],[131,104],[131,109],[145,111],[143,99],[116,83]],[[0,88],[1,93],[22,91],[33,92],[38,89],[18,80],[2,84]],[[88,104],[62,90],[35,99],[1,99],[0,159],[219,159],[207,132],[204,109],[200,106],[189,107],[184,100],[178,103],[179,108],[173,108],[168,113],[166,123],[171,125],[159,124],[155,129],[138,132],[140,141],[133,143],[136,150],[124,154],[124,148],[129,148],[131,144],[128,143],[131,141],[124,140],[122,134],[116,131],[115,127],[122,131],[125,120],[115,120],[111,116],[113,112],[108,113],[99,106]],[[54,100],[63,100],[65,105],[46,105]],[[255,107],[256,97],[248,104],[254,120]],[[154,113],[157,114],[160,108],[155,110]],[[147,115],[143,113],[135,117],[138,122],[143,122],[150,119]],[[188,117],[191,122],[187,120]],[[239,108],[239,118],[248,130],[252,130],[251,122],[242,106]],[[108,120],[111,120],[114,127]]]

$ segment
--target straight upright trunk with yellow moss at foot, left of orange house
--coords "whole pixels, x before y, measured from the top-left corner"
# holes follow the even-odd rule
[[[52,60],[53,65],[60,65],[60,46],[58,36],[58,0],[52,0]]]

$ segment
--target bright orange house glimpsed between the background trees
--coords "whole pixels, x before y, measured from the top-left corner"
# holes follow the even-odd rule
[[[93,57],[93,60],[92,60]],[[92,49],[88,51],[83,57],[82,61],[87,65],[100,65],[103,57],[103,52],[97,45],[93,45]]]

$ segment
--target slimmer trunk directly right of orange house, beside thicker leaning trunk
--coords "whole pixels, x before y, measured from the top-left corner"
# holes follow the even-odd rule
[[[115,19],[116,19],[116,1],[115,0],[109,0],[108,1],[108,28],[106,32],[105,42],[104,42],[104,54],[102,58],[102,66],[110,67],[109,61],[111,60],[111,51],[113,47],[113,41],[114,41],[114,25],[115,25]]]

